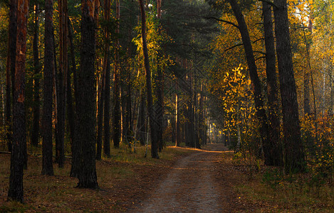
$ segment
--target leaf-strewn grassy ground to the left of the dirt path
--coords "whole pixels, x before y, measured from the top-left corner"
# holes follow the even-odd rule
[[[99,190],[78,189],[76,178],[70,178],[71,159],[64,168],[53,165],[55,176],[41,174],[41,156],[29,155],[24,171],[24,204],[7,202],[10,155],[0,154],[0,212],[124,212],[145,199],[160,178],[181,155],[192,151],[165,148],[160,160],[144,158],[145,148],[137,153],[121,147],[112,158],[96,162]],[[33,153],[38,153],[34,150]]]

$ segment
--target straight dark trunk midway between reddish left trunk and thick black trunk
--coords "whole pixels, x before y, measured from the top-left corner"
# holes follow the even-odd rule
[[[53,0],[45,2],[45,53],[43,80],[43,160],[42,175],[53,175],[52,104],[53,104]]]

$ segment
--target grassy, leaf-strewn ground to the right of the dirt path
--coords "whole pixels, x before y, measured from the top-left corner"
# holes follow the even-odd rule
[[[334,212],[334,185],[329,182],[316,184],[310,174],[283,175],[277,168],[261,165],[258,170],[224,159],[239,170],[234,188],[254,212]]]

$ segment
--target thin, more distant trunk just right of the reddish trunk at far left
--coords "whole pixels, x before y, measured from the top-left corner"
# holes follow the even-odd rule
[[[39,117],[40,117],[40,98],[39,98],[39,56],[38,56],[38,37],[39,37],[39,5],[35,3],[35,17],[33,28],[33,129],[31,133],[31,145],[38,146],[39,142]]]

